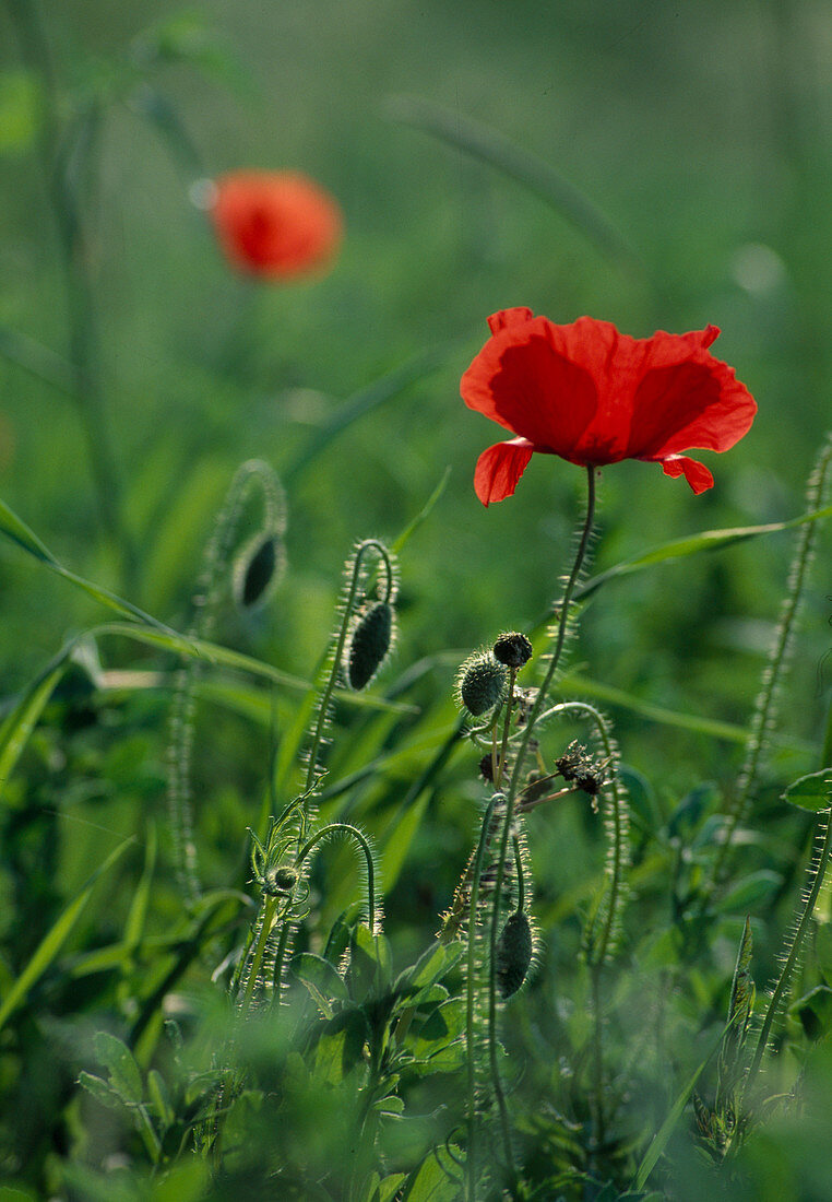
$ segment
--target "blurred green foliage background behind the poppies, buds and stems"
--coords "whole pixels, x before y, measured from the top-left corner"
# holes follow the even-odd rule
[[[748,438],[712,463],[712,493],[693,498],[647,464],[604,474],[597,572],[683,535],[802,512],[832,379],[832,14],[822,0],[515,0],[510,19],[497,0],[210,0],[190,10],[42,0],[53,65],[44,82],[22,53],[13,18],[23,8],[0,5],[0,495],[65,570],[0,545],[0,721],[22,706],[31,718],[0,783],[0,1177],[23,1197],[196,1198],[208,1189],[204,1164],[176,1158],[210,1121],[215,1097],[211,1052],[227,1014],[225,977],[210,977],[251,917],[246,827],[263,833],[271,789],[285,802],[297,784],[286,749],[351,545],[395,538],[450,466],[401,548],[399,648],[377,692],[397,708],[339,706],[322,786],[322,819],[360,822],[376,840],[390,998],[431,942],[475,837],[483,786],[477,752],[456,737],[454,671],[498,631],[539,626],[568,569],[580,472],[538,457],[516,498],[486,512],[473,495],[491,432],[465,410],[459,376],[485,340],[486,315],[528,304],[557,321],[591,313],[639,335],[714,322],[716,352],[759,401]],[[574,212],[516,172],[403,121],[402,96],[444,114],[451,133],[473,121],[547,165],[633,258],[610,256]],[[82,202],[132,579],[124,547],[101,526],[73,404],[72,299],[42,157],[50,119]],[[229,274],[193,184],[244,166],[303,169],[339,198],[347,237],[329,275],[281,288]],[[288,573],[256,613],[226,597],[216,638],[277,679],[227,660],[197,682],[192,790],[210,892],[186,914],[164,807],[173,644],[102,633],[70,657],[70,641],[110,617],[101,593],[73,581],[187,630],[200,548],[251,458],[287,483]],[[689,910],[718,855],[718,815],[792,538],[622,573],[583,608],[569,670],[615,721],[633,810],[632,911],[606,981],[615,1133],[599,1149],[587,1101],[591,999],[577,966],[603,835],[570,798],[528,821],[540,968],[502,1033],[521,1100],[519,1152],[538,1190],[529,1196],[579,1196],[565,1172],[583,1174],[581,1197],[638,1196],[624,1190],[652,1135],[720,1039],[749,912],[760,993],[776,971],[814,821],[782,793],[791,785],[816,810],[822,793],[808,774],[828,768],[824,554],[780,738],[706,940]],[[820,540],[828,548],[822,529]],[[605,700],[605,689],[618,692]],[[680,718],[722,722],[725,737]],[[552,728],[547,754],[579,734]],[[7,744],[4,754],[11,763]],[[321,957],[360,895],[352,853],[328,846],[310,885],[299,950]],[[832,1198],[831,918],[827,894],[766,1075],[771,1094],[789,1095],[800,1078],[798,1106],[773,1108],[719,1178],[701,1124],[681,1109],[646,1189],[699,1202],[719,1180],[736,1200]],[[315,988],[310,980],[293,990],[286,1023],[246,1029],[240,1063],[258,1085],[228,1115],[217,1198],[311,1196],[309,1180],[348,1146],[339,1075],[364,1071],[360,1006],[343,1002],[353,1017],[340,1028],[335,1011],[325,1018],[317,1051],[299,1047],[318,998],[333,1000],[321,977]],[[376,1011],[384,1039],[401,996]],[[453,1072],[453,1012],[437,1019],[439,995],[425,996],[407,1054],[444,1058],[437,1067]],[[275,1064],[286,1070],[280,1082]],[[441,1198],[455,1172],[459,1102],[442,1073],[408,1071],[406,1118],[381,1124],[388,1185],[379,1180],[367,1202],[400,1189],[412,1202]],[[711,1059],[696,1082],[708,1113],[714,1077]],[[299,1146],[305,1166],[293,1160]],[[154,1176],[154,1162],[175,1167]]]

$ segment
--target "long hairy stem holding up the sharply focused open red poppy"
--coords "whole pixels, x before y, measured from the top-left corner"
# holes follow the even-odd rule
[[[505,877],[505,861],[508,855],[509,839],[511,837],[511,827],[514,823],[515,802],[517,797],[517,790],[520,787],[520,780],[523,770],[523,763],[526,760],[526,752],[528,751],[528,744],[532,738],[534,725],[538,720],[540,710],[543,709],[545,698],[549,694],[549,689],[551,686],[552,680],[555,679],[555,673],[557,672],[557,667],[561,661],[561,655],[563,653],[563,647],[567,639],[567,627],[569,623],[569,605],[571,602],[573,593],[575,591],[577,578],[581,573],[581,567],[583,566],[583,560],[586,558],[586,552],[589,546],[589,537],[592,535],[594,519],[595,519],[595,469],[594,466],[589,466],[587,468],[587,506],[586,506],[586,517],[583,519],[583,528],[581,530],[581,537],[577,543],[575,561],[571,566],[571,572],[569,573],[569,578],[563,590],[563,597],[561,599],[557,632],[555,636],[555,648],[552,650],[552,655],[549,661],[549,668],[546,670],[546,676],[544,677],[543,684],[540,685],[538,695],[534,700],[534,704],[532,706],[532,710],[528,715],[528,720],[523,730],[523,737],[520,742],[517,756],[514,763],[514,770],[511,772],[511,780],[508,789],[508,796],[505,798],[505,817],[503,820],[503,829],[499,841],[499,856],[497,859],[497,871],[495,877],[493,906],[491,910],[491,932],[489,941],[490,942],[489,1058],[491,1061],[491,1083],[493,1087],[495,1096],[497,1099],[497,1105],[501,1115],[501,1127],[503,1132],[503,1147],[505,1152],[505,1161],[509,1173],[511,1174],[514,1172],[513,1168],[514,1154],[511,1149],[510,1130],[508,1121],[508,1107],[505,1105],[505,1095],[503,1093],[503,1087],[499,1078],[499,1061],[497,1058],[497,941],[499,938],[499,920],[502,911],[501,900],[503,892],[503,881]]]

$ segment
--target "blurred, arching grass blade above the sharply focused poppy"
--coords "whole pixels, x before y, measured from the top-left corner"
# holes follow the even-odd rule
[[[521,150],[505,135],[415,96],[391,97],[388,108],[402,124],[432,133],[497,167],[551,204],[607,255],[641,267],[633,249],[600,209],[547,162]]]

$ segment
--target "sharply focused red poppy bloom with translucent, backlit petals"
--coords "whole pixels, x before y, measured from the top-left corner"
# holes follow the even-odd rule
[[[504,309],[489,326],[460,391],[469,409],[517,438],[479,457],[483,505],[514,493],[534,451],[587,468],[646,459],[704,493],[713,476],[681,452],[728,451],[754,421],[748,389],[708,353],[716,326],[629,338],[609,321],[556,326],[531,309]]]

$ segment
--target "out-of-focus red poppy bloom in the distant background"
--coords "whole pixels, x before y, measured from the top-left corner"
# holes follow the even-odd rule
[[[291,171],[237,171],[215,182],[211,218],[234,267],[283,280],[328,262],[341,240],[336,202]]]

